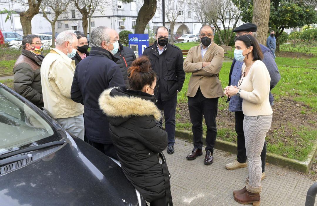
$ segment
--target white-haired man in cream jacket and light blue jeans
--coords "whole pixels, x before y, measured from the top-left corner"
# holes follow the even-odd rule
[[[45,56],[41,66],[44,107],[56,121],[75,136],[84,139],[84,106],[70,98],[76,54],[77,37],[70,31],[56,38],[56,48]]]

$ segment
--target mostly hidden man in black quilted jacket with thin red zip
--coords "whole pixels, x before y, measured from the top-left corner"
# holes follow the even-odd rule
[[[116,32],[118,43],[119,43],[119,50],[114,55],[119,60],[116,62],[118,66],[120,67],[120,70],[123,75],[124,83],[127,87],[129,87],[129,80],[128,80],[128,69],[131,66],[134,59],[137,57],[135,56],[133,50],[130,47],[123,46],[123,44],[120,42],[119,34]]]

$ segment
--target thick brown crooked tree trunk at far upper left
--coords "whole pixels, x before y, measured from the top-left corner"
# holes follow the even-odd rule
[[[23,35],[32,34],[32,18],[39,13],[42,0],[28,0],[29,8],[20,13],[20,21],[22,25]]]

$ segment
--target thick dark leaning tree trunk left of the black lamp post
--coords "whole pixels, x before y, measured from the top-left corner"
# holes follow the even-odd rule
[[[144,0],[135,23],[135,34],[144,34],[146,24],[152,19],[156,11],[156,0]]]

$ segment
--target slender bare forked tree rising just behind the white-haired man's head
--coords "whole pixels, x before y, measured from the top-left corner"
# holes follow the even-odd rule
[[[52,48],[55,48],[55,23],[58,17],[67,9],[68,4],[68,0],[42,0],[40,5],[40,8],[43,12],[43,17],[46,18],[46,20],[52,26]],[[48,17],[46,8],[51,8],[51,10],[54,11],[54,18],[50,19]]]

